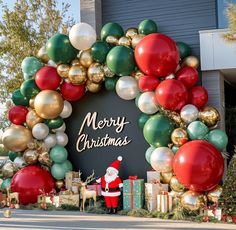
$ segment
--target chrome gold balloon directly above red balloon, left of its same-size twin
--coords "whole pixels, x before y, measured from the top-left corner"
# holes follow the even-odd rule
[[[82,85],[87,81],[87,70],[82,65],[73,65],[69,71],[69,80],[74,85]]]

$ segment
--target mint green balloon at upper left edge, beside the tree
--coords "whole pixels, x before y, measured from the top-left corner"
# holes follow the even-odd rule
[[[36,57],[26,57],[21,63],[21,69],[27,76],[33,76],[43,67],[43,63]]]

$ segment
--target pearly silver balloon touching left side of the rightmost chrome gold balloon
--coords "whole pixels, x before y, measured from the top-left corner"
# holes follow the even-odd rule
[[[180,111],[181,119],[189,124],[198,118],[198,108],[195,105],[187,104]]]

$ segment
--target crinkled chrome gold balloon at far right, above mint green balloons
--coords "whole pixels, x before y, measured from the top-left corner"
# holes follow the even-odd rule
[[[220,114],[214,107],[205,106],[199,110],[198,118],[208,127],[212,127],[220,120]]]

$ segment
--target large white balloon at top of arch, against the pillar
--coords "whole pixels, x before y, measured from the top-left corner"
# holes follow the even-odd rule
[[[96,31],[87,23],[80,22],[72,26],[69,32],[71,44],[78,50],[87,50],[96,42]]]

